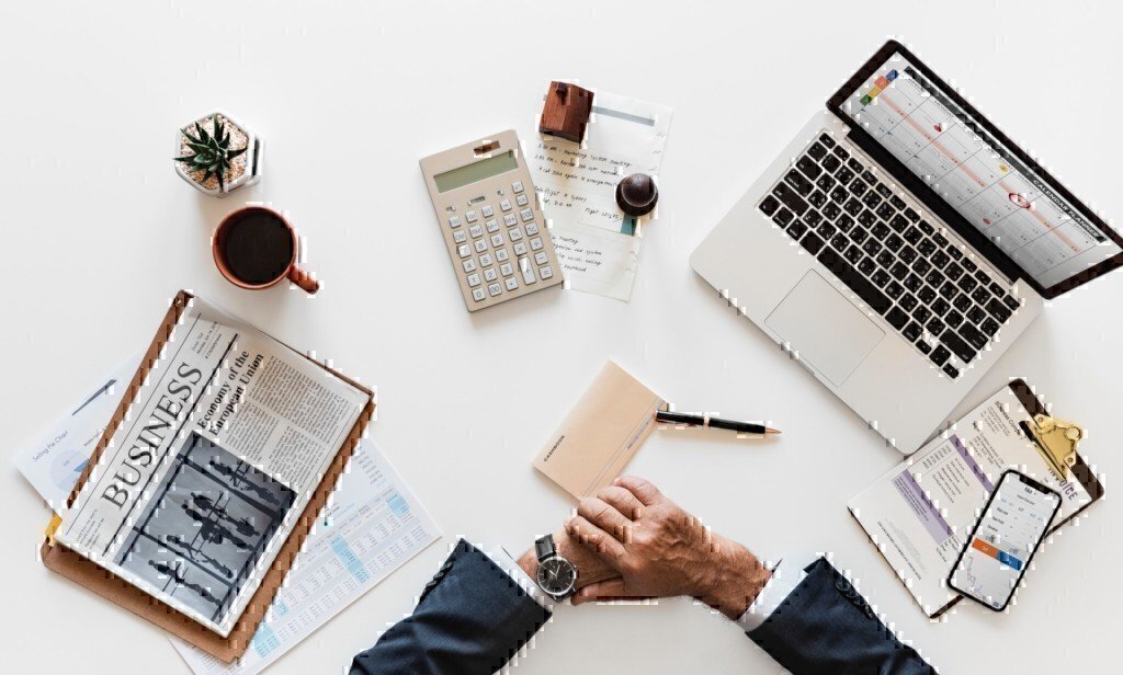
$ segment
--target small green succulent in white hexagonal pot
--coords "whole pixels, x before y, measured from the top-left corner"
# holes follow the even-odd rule
[[[225,112],[212,112],[175,133],[175,173],[211,196],[225,197],[262,177],[262,140]]]

